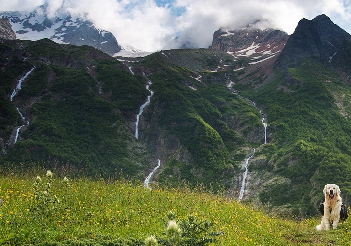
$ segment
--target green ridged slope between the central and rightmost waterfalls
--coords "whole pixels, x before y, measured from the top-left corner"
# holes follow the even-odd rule
[[[175,50],[165,52],[167,56],[153,54],[141,62],[154,69],[148,76],[155,94],[145,112],[146,121],[151,122],[144,132],[145,140],[169,152],[169,157],[163,159],[163,172],[158,181],[180,179],[212,185],[215,189],[222,185],[236,186],[238,164],[248,154],[242,148],[250,145],[245,137],[249,138],[255,130],[263,132],[258,109],[224,86],[224,74],[217,78],[208,74],[204,82],[192,77],[197,76],[190,70],[195,65],[200,70],[217,67],[218,61],[209,62],[213,53],[229,59],[227,54],[218,51]],[[201,56],[202,60],[187,67],[177,65],[189,56]],[[202,67],[199,61],[203,62]],[[150,139],[155,133],[165,139],[165,147]],[[261,133],[252,138],[261,138]],[[177,144],[185,150],[179,152]]]

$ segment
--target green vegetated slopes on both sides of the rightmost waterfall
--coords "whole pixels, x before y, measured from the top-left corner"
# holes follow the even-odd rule
[[[196,60],[196,71],[191,70],[195,65],[183,62],[191,52],[194,57],[202,55],[202,67]],[[252,180],[257,184],[248,186],[253,190],[252,198],[280,212],[315,215],[324,185],[335,183],[348,204],[350,85],[334,69],[305,58],[286,71],[275,71],[275,79],[269,83],[241,82],[240,78],[247,77],[242,71],[206,72],[223,66],[219,61],[228,62],[227,54],[216,54],[217,63],[206,62],[210,52],[166,51],[167,57],[156,53],[143,61],[147,65],[152,61],[155,69],[149,78],[156,92],[146,119],[157,122],[161,132],[175,136],[194,163],[191,166],[179,154],[175,155],[165,160],[158,181],[185,179],[194,183],[220,179],[230,186],[232,173],[238,172],[237,165],[249,153],[247,147],[263,143],[258,109],[243,97],[231,94],[225,86],[228,76],[240,95],[263,109],[269,124],[268,144],[257,149],[249,166],[256,175],[253,179],[258,179]],[[265,76],[255,70],[249,75],[255,73]],[[199,74],[201,82],[193,79]]]

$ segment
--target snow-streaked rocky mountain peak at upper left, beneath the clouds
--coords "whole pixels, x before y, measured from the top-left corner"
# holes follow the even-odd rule
[[[49,16],[47,7],[44,4],[30,13],[0,12],[0,16],[10,20],[21,40],[49,38],[57,43],[90,45],[111,56],[121,50],[111,32],[96,28],[90,20],[74,18],[62,9],[57,10],[55,16]]]

